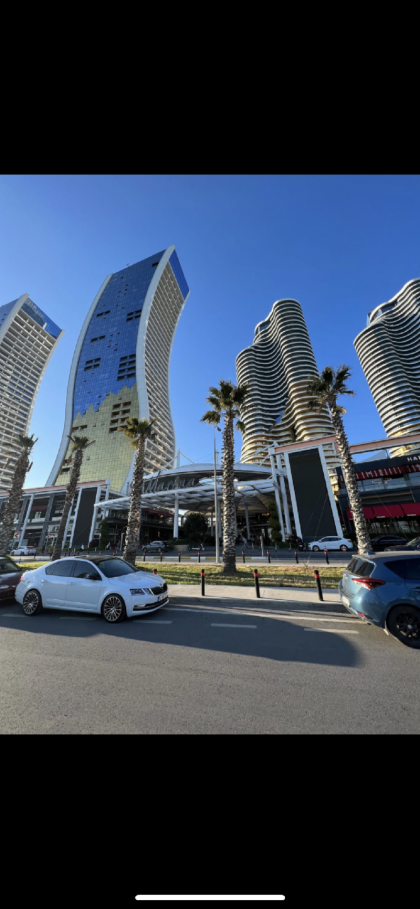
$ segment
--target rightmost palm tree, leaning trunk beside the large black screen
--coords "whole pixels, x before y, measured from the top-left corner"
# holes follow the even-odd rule
[[[331,366],[326,366],[319,377],[309,376],[310,384],[308,386],[308,392],[310,395],[313,395],[313,397],[309,400],[308,407],[310,410],[317,410],[318,413],[322,411],[325,405],[327,405],[330,410],[337,437],[338,450],[340,452],[350,508],[353,514],[359,551],[366,552],[370,549],[369,531],[365,521],[362,500],[357,488],[350,446],[342,420],[343,414],[347,413],[347,411],[344,407],[340,407],[340,405],[337,404],[339,395],[351,395],[354,397],[355,392],[351,391],[346,385],[349,376],[350,367],[345,365],[339,366],[337,370],[334,370]]]

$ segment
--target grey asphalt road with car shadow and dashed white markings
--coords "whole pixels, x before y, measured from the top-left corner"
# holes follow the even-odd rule
[[[306,605],[304,608],[306,609]],[[334,607],[331,607],[333,610]],[[420,652],[337,612],[0,609],[3,734],[420,731]]]

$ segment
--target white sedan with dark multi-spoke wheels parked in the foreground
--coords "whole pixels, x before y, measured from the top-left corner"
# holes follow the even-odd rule
[[[25,572],[15,597],[25,615],[38,615],[45,606],[101,613],[107,622],[120,622],[161,609],[168,602],[168,587],[160,575],[124,559],[80,556]]]

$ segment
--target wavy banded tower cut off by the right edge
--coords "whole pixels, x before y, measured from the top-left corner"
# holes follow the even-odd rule
[[[372,309],[354,346],[388,436],[420,431],[420,279]],[[418,446],[391,450],[401,457]]]

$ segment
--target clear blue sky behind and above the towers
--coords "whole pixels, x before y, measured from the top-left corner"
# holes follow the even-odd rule
[[[27,485],[44,484],[56,456],[74,347],[100,284],[172,243],[191,289],[170,374],[186,455],[212,458],[213,430],[200,423],[208,386],[236,381],[236,354],[288,296],[319,369],[352,367],[350,442],[385,435],[353,340],[370,309],[419,277],[419,211],[418,176],[1,176],[0,304],[28,293],[65,329],[35,405]]]

